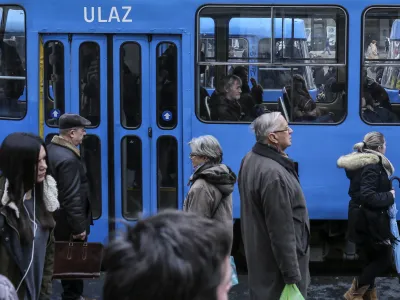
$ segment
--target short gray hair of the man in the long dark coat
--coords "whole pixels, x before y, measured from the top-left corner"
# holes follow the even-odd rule
[[[257,142],[265,143],[268,134],[279,129],[281,125],[278,120],[282,114],[278,111],[262,114],[253,121],[250,128],[256,135]]]

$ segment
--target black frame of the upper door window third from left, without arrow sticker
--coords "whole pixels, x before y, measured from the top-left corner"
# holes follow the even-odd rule
[[[123,62],[124,62],[124,57],[122,56],[122,52],[123,51],[127,51],[124,49],[125,45],[136,45],[138,47],[138,70],[139,70],[139,84],[138,84],[138,89],[139,89],[139,99],[137,99],[137,101],[139,101],[138,104],[138,113],[139,113],[139,122],[135,125],[135,126],[128,126],[127,125],[127,120],[128,118],[126,116],[123,116],[124,114],[126,114],[125,110],[124,110],[124,92],[123,92],[123,88],[124,88],[124,81],[122,78],[123,75]],[[143,108],[143,89],[142,89],[142,77],[143,77],[143,70],[142,70],[142,47],[140,45],[140,43],[136,42],[136,41],[127,41],[121,44],[121,46],[119,47],[119,91],[120,91],[120,122],[121,122],[121,126],[125,129],[137,129],[140,128],[140,126],[142,126],[143,123],[143,114],[142,114],[142,108]],[[129,68],[129,66],[128,66]],[[134,84],[132,82],[132,84]]]

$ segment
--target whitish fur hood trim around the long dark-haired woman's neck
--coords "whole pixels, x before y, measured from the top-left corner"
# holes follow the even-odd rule
[[[43,182],[43,201],[49,212],[54,212],[60,207],[58,202],[58,190],[57,183],[53,177],[50,175],[46,176],[46,180]],[[10,197],[8,196],[8,180],[6,179],[4,185],[4,193],[1,198],[1,204],[3,206],[7,205],[9,208],[15,211],[15,215],[19,218],[19,209],[14,202],[9,202]]]

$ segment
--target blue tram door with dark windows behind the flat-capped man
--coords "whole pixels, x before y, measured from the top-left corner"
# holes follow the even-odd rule
[[[103,35],[43,35],[42,133],[49,143],[66,112],[91,121],[80,154],[90,185],[94,226],[89,241],[108,236],[107,40]]]

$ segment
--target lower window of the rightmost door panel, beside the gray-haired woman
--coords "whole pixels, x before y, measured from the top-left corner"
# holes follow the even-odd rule
[[[157,208],[178,208],[178,143],[173,136],[157,140],[157,174]]]

